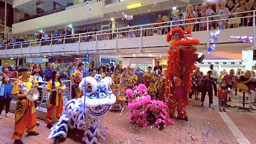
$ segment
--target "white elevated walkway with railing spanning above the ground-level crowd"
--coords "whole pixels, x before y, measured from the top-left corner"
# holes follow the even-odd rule
[[[247,15],[251,13],[251,15]],[[233,13],[238,14],[238,13]],[[166,42],[166,34],[174,27],[187,27],[193,24],[193,38],[201,42],[197,46],[198,52],[204,52],[206,47],[213,44],[211,33],[215,32],[220,26],[227,23],[234,24],[236,19],[241,20],[239,27],[226,27],[217,36],[216,51],[249,50],[254,49],[255,43],[242,43],[230,36],[252,36],[256,37],[255,11],[244,12],[245,17],[234,17],[223,19],[223,15],[213,15],[211,17],[195,18],[194,23],[185,23],[185,20],[170,21],[163,23],[151,23],[120,29],[103,31],[93,31],[91,33],[75,34],[67,37],[54,37],[17,43],[14,45],[4,45],[0,49],[0,58],[23,58],[23,57],[42,57],[49,55],[52,57],[89,54],[115,54],[120,57],[151,57],[163,54],[169,50]],[[207,26],[207,29],[200,27]],[[210,30],[211,29],[211,30]]]

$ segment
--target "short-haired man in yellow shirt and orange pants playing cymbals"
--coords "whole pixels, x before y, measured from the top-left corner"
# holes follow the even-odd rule
[[[28,127],[26,132],[28,135],[39,135],[36,132],[36,109],[33,101],[29,101],[26,98],[27,90],[32,86],[38,87],[37,79],[30,78],[30,67],[23,66],[19,69],[22,76],[17,79],[13,84],[12,95],[17,98],[17,103],[15,106],[15,125],[14,133],[12,138],[14,144],[23,143],[21,141],[22,135]]]

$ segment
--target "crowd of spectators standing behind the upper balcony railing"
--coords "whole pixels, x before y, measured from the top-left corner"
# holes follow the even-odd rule
[[[174,11],[171,17],[169,15],[161,14],[157,15],[156,25],[143,26],[141,27],[128,27],[125,29],[113,29],[99,31],[97,27],[91,28],[85,27],[81,34],[71,35],[70,28],[65,27],[63,30],[54,29],[53,33],[43,33],[37,31],[37,43],[41,45],[50,44],[63,44],[63,43],[77,43],[77,42],[92,42],[92,41],[105,41],[116,38],[135,38],[142,36],[154,36],[154,35],[165,35],[171,28],[181,27],[183,29],[191,28],[193,31],[206,30],[207,26],[209,29],[218,28],[237,28],[240,26],[252,26],[252,15],[251,11],[256,9],[255,0],[222,0],[214,5],[207,5],[203,3],[201,5],[187,5],[186,11],[181,13],[180,10]],[[233,14],[236,12],[245,12],[241,14]],[[207,25],[208,16],[209,20],[215,20]],[[240,18],[248,16],[248,18]],[[227,20],[230,18],[229,20]],[[172,22],[172,24],[171,24]],[[170,27],[172,25],[172,27]],[[145,29],[147,28],[147,29]],[[118,35],[117,35],[118,34]],[[47,41],[51,39],[52,41]],[[12,39],[1,39],[0,44],[3,45],[15,45],[22,44],[22,47],[28,46],[28,39],[12,37]],[[20,46],[17,46],[19,48]],[[16,48],[16,47],[14,47]]]

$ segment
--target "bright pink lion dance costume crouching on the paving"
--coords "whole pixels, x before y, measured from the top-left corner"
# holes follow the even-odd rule
[[[148,124],[155,124],[162,130],[167,124],[174,124],[169,118],[168,109],[164,102],[150,100],[148,89],[144,84],[140,84],[133,90],[127,89],[128,107],[131,108],[130,122],[147,127]]]

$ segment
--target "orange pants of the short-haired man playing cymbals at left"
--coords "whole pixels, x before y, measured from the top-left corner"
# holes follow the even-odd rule
[[[34,102],[32,101],[27,99],[17,100],[15,106],[14,133],[12,135],[12,139],[20,140],[26,130],[26,126],[28,127],[26,132],[33,132],[36,130],[36,113],[32,113],[33,107]]]

